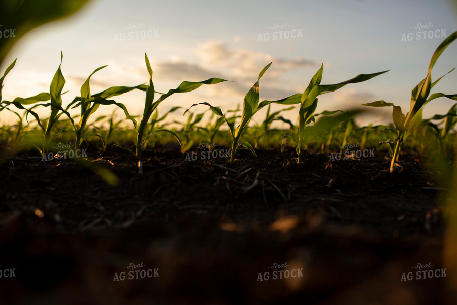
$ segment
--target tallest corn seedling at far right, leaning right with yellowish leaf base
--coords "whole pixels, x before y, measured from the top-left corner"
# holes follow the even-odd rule
[[[411,123],[416,116],[416,114],[419,112],[420,109],[422,109],[423,106],[425,106],[427,103],[430,101],[441,98],[441,97],[446,97],[451,100],[457,100],[457,94],[452,94],[452,95],[446,95],[443,93],[434,93],[430,95],[430,90],[433,88],[433,86],[440,81],[441,78],[443,78],[445,75],[449,74],[452,72],[455,68],[450,70],[448,73],[445,75],[441,76],[438,78],[435,82],[432,83],[432,68],[435,65],[436,61],[440,57],[440,55],[443,53],[443,51],[455,40],[457,39],[457,32],[452,33],[449,35],[435,50],[435,52],[432,55],[432,58],[430,60],[429,68],[427,71],[427,76],[422,79],[411,91],[411,103],[410,103],[410,109],[409,112],[406,113],[406,116],[402,113],[402,109],[400,106],[395,106],[393,103],[386,103],[385,101],[376,101],[368,104],[363,104],[364,106],[371,106],[371,107],[393,107],[392,111],[392,119],[396,128],[396,143],[395,143],[395,148],[393,148],[394,154],[392,157],[392,161],[390,163],[390,172],[394,171],[395,167],[398,167],[399,164],[396,163],[398,162],[398,157],[399,157],[399,150],[400,150],[400,145],[403,142],[403,137],[405,136],[405,133],[410,129]],[[393,147],[394,143],[389,143],[391,147]]]

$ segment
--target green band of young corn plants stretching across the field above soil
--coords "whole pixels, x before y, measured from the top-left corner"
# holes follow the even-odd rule
[[[389,126],[357,126],[355,118],[364,111],[363,108],[368,109],[367,107],[315,113],[320,95],[331,94],[348,84],[372,81],[371,79],[382,74],[386,74],[384,77],[387,77],[388,70],[359,74],[335,84],[322,84],[322,64],[302,93],[279,100],[261,101],[260,79],[265,73],[268,73],[267,70],[272,65],[269,63],[260,70],[257,80],[248,90],[242,101],[242,109],[221,109],[203,102],[194,104],[188,109],[179,106],[172,107],[167,112],[159,114],[158,106],[170,96],[190,93],[202,85],[219,86],[220,83],[227,80],[213,77],[198,82],[183,81],[177,88],[170,89],[167,93],[160,93],[154,88],[153,70],[148,56],[145,54],[145,64],[149,74],[147,84],[112,86],[102,92],[92,94],[90,79],[97,71],[106,67],[101,66],[87,77],[81,86],[80,96],[64,105],[62,102],[64,93],[62,92],[66,80],[61,71],[63,60],[63,53],[61,53],[60,65],[52,79],[49,92],[6,101],[2,100],[2,89],[7,74],[16,64],[16,60],[14,60],[0,78],[0,111],[9,111],[17,116],[17,124],[3,126],[0,130],[1,140],[11,148],[9,154],[4,154],[4,159],[24,148],[32,148],[46,159],[50,154],[61,155],[61,152],[56,151],[55,147],[59,145],[59,142],[64,141],[64,143],[70,144],[67,145],[67,148],[72,150],[71,155],[84,163],[85,159],[80,153],[81,145],[84,145],[84,142],[92,141],[97,143],[100,150],[105,150],[107,145],[112,144],[130,151],[140,160],[141,167],[142,151],[145,148],[153,147],[156,143],[174,142],[179,145],[183,154],[189,150],[195,150],[195,146],[205,143],[209,150],[219,150],[216,153],[217,157],[221,155],[230,162],[235,161],[237,150],[240,147],[248,149],[256,156],[258,148],[278,147],[284,151],[286,146],[292,146],[296,151],[293,162],[300,163],[303,162],[303,152],[307,149],[312,148],[320,153],[331,153],[331,157],[339,154],[341,157],[344,155],[345,146],[357,143],[363,148],[388,149],[391,157],[390,172],[401,167],[399,156],[404,147],[419,151],[423,156],[435,157],[440,160],[438,162],[440,164],[449,165],[455,160],[454,127],[457,123],[457,104],[452,105],[447,113],[437,114],[430,118],[422,117],[422,109],[427,103],[437,98],[457,100],[457,94],[431,93],[434,85],[445,76],[432,79],[432,69],[442,52],[455,39],[457,39],[457,32],[447,37],[433,53],[427,75],[411,91],[410,109],[406,114],[399,106],[383,100],[362,105],[392,107],[392,124]],[[451,69],[448,73],[453,70]],[[358,86],[361,85],[358,84]],[[118,96],[128,95],[134,90],[141,90],[145,94],[144,110],[140,116],[133,116],[125,104],[116,101]],[[281,105],[284,108],[272,112],[272,104]],[[111,116],[92,118],[100,106],[109,105],[120,108],[123,115],[119,117],[119,112],[113,112]],[[46,107],[49,107],[49,116],[40,117],[37,109]],[[256,114],[264,108],[266,116],[261,120]],[[80,114],[72,116],[71,109],[79,109]],[[184,122],[166,120],[170,113],[179,111],[185,117]],[[284,118],[283,113],[285,112],[296,113],[297,119],[291,121]],[[254,117],[255,119],[253,119]],[[260,123],[252,124],[254,121],[260,121]],[[281,121],[287,128],[273,129],[271,126],[274,121]],[[126,123],[130,123],[130,127]],[[170,124],[174,124],[175,127],[170,128]],[[208,157],[211,157],[211,154],[209,153]],[[67,154],[65,157],[69,155]]]

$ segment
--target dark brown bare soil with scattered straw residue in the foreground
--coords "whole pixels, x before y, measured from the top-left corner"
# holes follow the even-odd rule
[[[140,175],[124,150],[89,147],[117,186],[70,159],[21,153],[1,164],[0,270],[15,275],[0,278],[2,303],[448,300],[443,208],[418,156],[389,173],[377,151],[332,162],[305,152],[301,164],[293,149],[239,150],[233,163],[193,152],[196,161],[174,147],[145,151]],[[440,271],[417,279],[417,264]]]

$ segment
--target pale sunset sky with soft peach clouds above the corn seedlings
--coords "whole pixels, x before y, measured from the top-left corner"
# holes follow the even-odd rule
[[[161,112],[198,102],[234,109],[242,103],[260,70],[273,61],[260,80],[262,100],[303,92],[322,63],[322,83],[390,69],[367,82],[321,96],[317,112],[344,110],[383,99],[402,106],[406,113],[411,89],[426,76],[434,50],[444,36],[457,30],[456,16],[449,0],[94,0],[74,16],[41,26],[19,40],[0,67],[3,72],[18,58],[5,80],[3,98],[12,100],[47,92],[60,63],[60,51],[67,80],[64,90],[69,90],[63,96],[64,105],[79,95],[87,76],[103,65],[108,67],[91,78],[92,93],[113,85],[144,83],[148,80],[144,63],[147,52],[159,92],[175,88],[183,80],[220,77],[232,81],[174,95],[161,104]],[[418,26],[425,27],[417,29]],[[288,34],[282,33],[284,36],[279,39],[279,31]],[[292,31],[296,37],[291,37]],[[417,34],[422,31],[433,31],[434,36],[429,38],[426,33],[423,39],[421,33]],[[408,33],[411,40],[402,41]],[[457,67],[456,55],[454,42],[438,60],[432,78]],[[433,92],[455,94],[456,83],[454,71]],[[125,103],[131,113],[140,114],[144,93],[126,94],[117,100]],[[436,100],[426,106],[425,116],[446,113],[452,105],[451,100]],[[206,110],[201,107],[197,111]],[[385,123],[390,119],[391,109],[376,110],[376,115],[363,123]],[[40,114],[46,116],[48,111],[44,109]],[[101,107],[97,113],[111,111],[112,108]],[[284,114],[295,121],[295,113]],[[254,120],[261,117],[259,114]],[[0,120],[9,119],[3,111]],[[182,112],[172,119],[182,119]]]

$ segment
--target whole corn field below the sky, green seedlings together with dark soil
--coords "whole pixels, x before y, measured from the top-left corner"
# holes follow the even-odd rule
[[[147,54],[145,83],[92,93],[102,66],[73,98],[61,53],[49,92],[7,101],[14,60],[0,78],[0,118],[17,118],[0,127],[2,303],[453,304],[457,94],[435,92],[432,70],[456,39],[407,88],[410,109],[316,113],[320,95],[389,75],[323,84],[323,64],[303,92],[263,100],[274,62],[238,107],[167,108],[227,80],[160,93]],[[135,116],[117,98],[139,91]],[[438,98],[448,112],[424,117]],[[392,109],[391,124],[358,126],[373,107]]]

